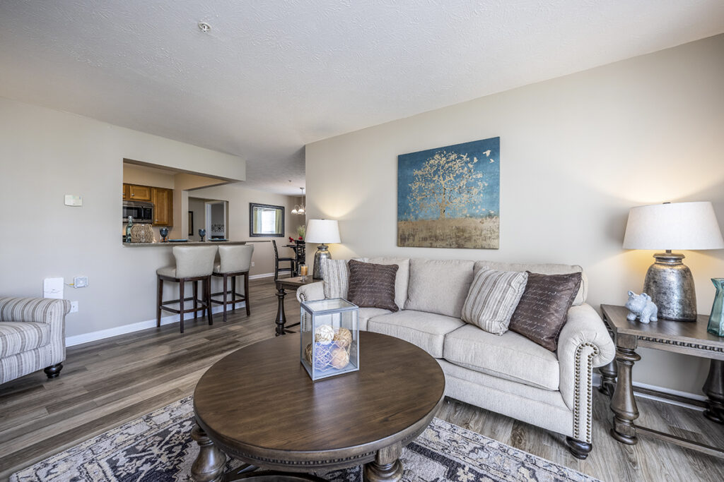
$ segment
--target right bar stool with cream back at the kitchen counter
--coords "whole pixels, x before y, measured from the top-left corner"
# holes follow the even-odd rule
[[[223,295],[223,301],[211,298],[211,303],[224,306],[224,322],[227,317],[227,305],[231,305],[231,311],[236,309],[236,304],[246,302],[246,316],[249,316],[249,268],[251,267],[251,255],[254,253],[252,244],[241,244],[237,246],[219,246],[219,258],[221,262],[214,266],[214,276],[220,276],[223,290],[221,293],[213,293],[211,296]],[[236,277],[244,277],[244,294],[236,292]],[[231,278],[231,301],[228,301],[228,282]],[[236,297],[239,296],[239,299]]]

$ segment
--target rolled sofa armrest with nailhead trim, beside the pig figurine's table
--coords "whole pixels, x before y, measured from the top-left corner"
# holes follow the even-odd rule
[[[571,306],[558,337],[560,393],[573,410],[573,438],[591,442],[593,369],[613,360],[615,345],[606,325],[588,304]]]

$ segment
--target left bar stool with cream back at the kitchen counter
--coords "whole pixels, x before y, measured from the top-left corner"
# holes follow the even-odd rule
[[[181,332],[183,333],[183,317],[185,313],[193,311],[196,319],[198,311],[206,310],[209,324],[214,323],[211,317],[211,273],[214,272],[214,259],[216,259],[216,246],[174,246],[176,266],[167,266],[156,270],[156,326],[161,326],[161,310],[179,314]],[[179,283],[179,298],[177,300],[163,301],[164,281]],[[187,281],[193,282],[193,298],[186,298],[184,287]],[[198,281],[203,282],[203,300],[198,299]],[[193,308],[185,309],[185,301],[193,299]],[[169,308],[166,305],[179,304],[179,309]]]

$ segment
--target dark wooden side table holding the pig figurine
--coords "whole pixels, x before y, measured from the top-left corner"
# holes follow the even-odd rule
[[[707,411],[704,415],[717,423],[724,418],[724,337],[707,333],[706,315],[699,315],[696,322],[674,322],[659,319],[649,324],[628,321],[628,309],[624,306],[601,305],[603,321],[615,338],[615,365],[610,363],[599,370],[602,374],[601,392],[611,397],[614,413],[611,436],[618,442],[633,445],[638,434],[653,436],[673,444],[724,458],[724,449],[700,444],[689,439],[666,434],[644,426],[636,426],[639,409],[633,398],[631,369],[633,363],[641,360],[636,348],[673,351],[686,355],[710,358],[711,365],[704,393],[707,395]],[[617,380],[618,376],[618,380]],[[718,429],[718,427],[717,427]]]

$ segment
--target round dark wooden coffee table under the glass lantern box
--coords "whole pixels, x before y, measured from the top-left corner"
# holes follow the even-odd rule
[[[290,479],[366,464],[366,480],[400,480],[402,448],[442,405],[437,361],[371,332],[360,332],[359,371],[312,382],[299,359],[299,337],[285,335],[237,350],[206,371],[194,392],[192,436],[201,449],[195,481],[221,480],[226,455]],[[240,477],[250,475],[264,473]]]

